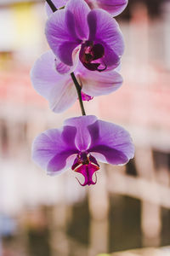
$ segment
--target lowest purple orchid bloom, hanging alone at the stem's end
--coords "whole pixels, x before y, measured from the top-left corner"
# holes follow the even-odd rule
[[[32,145],[32,159],[49,175],[71,168],[83,175],[82,186],[96,183],[93,177],[99,170],[98,161],[122,165],[133,154],[129,133],[94,115],[66,119],[61,129],[42,132]]]

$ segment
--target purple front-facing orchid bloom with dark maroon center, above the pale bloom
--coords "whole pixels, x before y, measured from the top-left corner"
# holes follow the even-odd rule
[[[60,61],[74,67],[79,55],[84,67],[99,72],[116,68],[124,50],[122,32],[112,16],[83,0],[70,0],[50,15],[46,24],[50,48]]]

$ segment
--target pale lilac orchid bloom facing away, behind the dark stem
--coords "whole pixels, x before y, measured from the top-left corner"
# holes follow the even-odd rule
[[[59,72],[60,73],[59,73]],[[31,69],[31,82],[34,89],[45,97],[50,108],[60,113],[77,101],[77,90],[65,65],[57,61],[54,53],[43,54]],[[89,71],[79,61],[75,75],[82,86],[82,100],[89,101],[94,96],[110,94],[122,85],[122,76],[116,71],[99,73]]]

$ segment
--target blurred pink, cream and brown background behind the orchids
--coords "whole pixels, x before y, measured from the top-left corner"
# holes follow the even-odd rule
[[[46,20],[44,1],[0,0],[0,256],[169,256],[170,1],[129,0],[116,18],[124,83],[85,107],[123,125],[136,152],[127,166],[101,165],[88,188],[31,160],[38,133],[80,115],[78,103],[51,113],[31,86]]]

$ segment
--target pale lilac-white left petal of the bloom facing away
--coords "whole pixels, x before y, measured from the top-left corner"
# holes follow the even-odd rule
[[[77,101],[77,90],[70,75],[60,75],[55,69],[54,54],[43,54],[31,69],[31,82],[37,92],[44,96],[50,108],[62,112]]]

